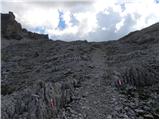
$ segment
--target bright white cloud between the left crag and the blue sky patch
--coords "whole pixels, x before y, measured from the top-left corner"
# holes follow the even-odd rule
[[[19,22],[23,23],[24,27],[27,28],[36,28],[43,25],[45,29],[55,29],[59,22],[59,14],[58,11],[55,9],[41,10],[35,8],[27,11],[25,14],[18,17],[17,19],[19,19]]]

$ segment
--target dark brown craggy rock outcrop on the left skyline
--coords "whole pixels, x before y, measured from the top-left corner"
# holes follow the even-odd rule
[[[48,35],[32,33],[26,29],[22,29],[21,24],[15,20],[12,12],[9,14],[1,14],[2,36],[7,39],[21,40],[23,37],[30,39],[47,39]]]

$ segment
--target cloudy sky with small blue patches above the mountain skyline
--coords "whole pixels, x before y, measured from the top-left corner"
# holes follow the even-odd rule
[[[53,40],[107,41],[160,19],[159,0],[1,0],[29,31]]]

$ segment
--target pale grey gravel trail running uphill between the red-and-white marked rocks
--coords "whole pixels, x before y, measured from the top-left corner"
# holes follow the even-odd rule
[[[101,49],[96,49],[90,54],[90,67],[94,69],[87,73],[88,79],[85,79],[81,87],[75,91],[76,98],[80,99],[73,100],[66,108],[67,118],[106,118],[112,113],[113,89],[102,83],[106,71],[104,55]]]

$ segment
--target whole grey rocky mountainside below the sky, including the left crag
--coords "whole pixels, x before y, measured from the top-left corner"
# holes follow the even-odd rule
[[[159,23],[108,42],[1,25],[2,118],[159,118]]]

